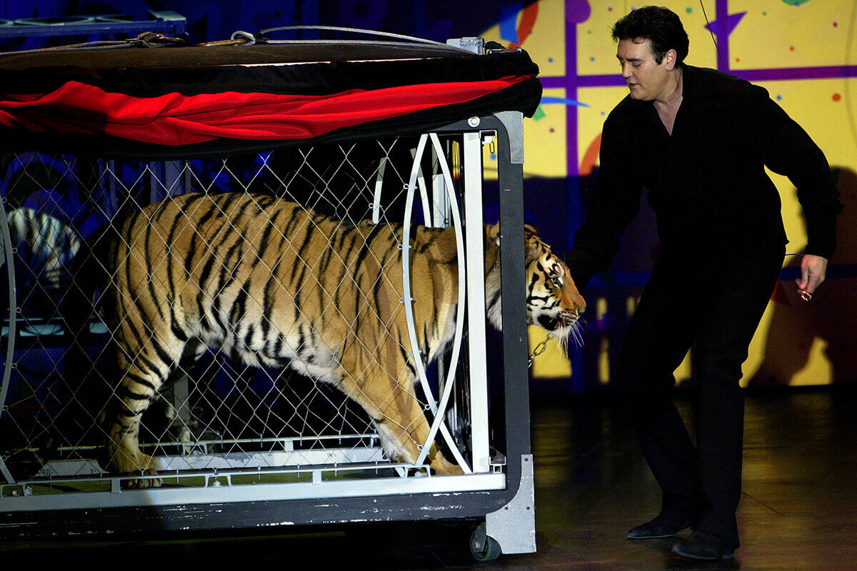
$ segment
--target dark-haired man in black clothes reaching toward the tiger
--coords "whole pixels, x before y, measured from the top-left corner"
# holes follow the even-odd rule
[[[731,557],[739,545],[741,364],[787,242],[764,166],[798,188],[809,242],[797,282],[806,297],[824,281],[842,205],[824,154],[763,88],[684,63],[687,34],[673,12],[634,10],[613,35],[630,93],[604,122],[591,211],[566,261],[580,289],[606,270],[648,189],[662,248],[617,380],[662,509],[627,537],[692,527],[674,553]],[[696,446],[671,401],[673,372],[694,343]]]

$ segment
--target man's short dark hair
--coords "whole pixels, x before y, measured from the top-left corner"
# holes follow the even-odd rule
[[[675,50],[676,66],[687,56],[687,33],[674,12],[659,6],[644,6],[632,10],[616,22],[613,39],[649,39],[655,61],[660,64],[670,50]]]

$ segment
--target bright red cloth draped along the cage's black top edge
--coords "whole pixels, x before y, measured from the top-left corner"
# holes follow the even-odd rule
[[[0,125],[37,133],[107,134],[159,145],[216,139],[311,139],[339,128],[462,104],[532,76],[429,83],[330,95],[220,92],[139,98],[69,81],[0,100]]]

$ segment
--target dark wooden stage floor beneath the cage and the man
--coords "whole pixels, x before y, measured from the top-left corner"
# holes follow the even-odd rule
[[[679,400],[688,419],[689,401]],[[659,492],[631,431],[608,401],[536,399],[536,542],[530,555],[478,564],[470,527],[396,524],[256,538],[0,545],[10,564],[79,561],[107,568],[194,563],[218,568],[857,570],[857,392],[747,396],[741,547],[728,562],[670,555],[674,539],[632,541]],[[304,532],[305,531],[305,532]],[[9,565],[8,565],[9,564]]]

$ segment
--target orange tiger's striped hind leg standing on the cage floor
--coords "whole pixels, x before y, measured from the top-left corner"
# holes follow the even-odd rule
[[[168,344],[154,339],[155,336],[137,350],[126,347],[119,352],[120,370],[124,374],[105,425],[111,473],[122,476],[158,474],[156,462],[140,449],[140,421],[181,357],[183,344],[176,339]],[[172,362],[168,362],[170,360]],[[157,488],[163,482],[158,478],[131,479],[123,484],[129,488]]]

